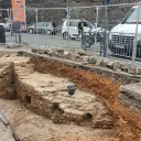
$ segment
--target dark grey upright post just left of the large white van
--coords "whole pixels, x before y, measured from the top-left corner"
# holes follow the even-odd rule
[[[107,4],[105,6],[105,39],[104,39],[104,57],[107,57]]]

